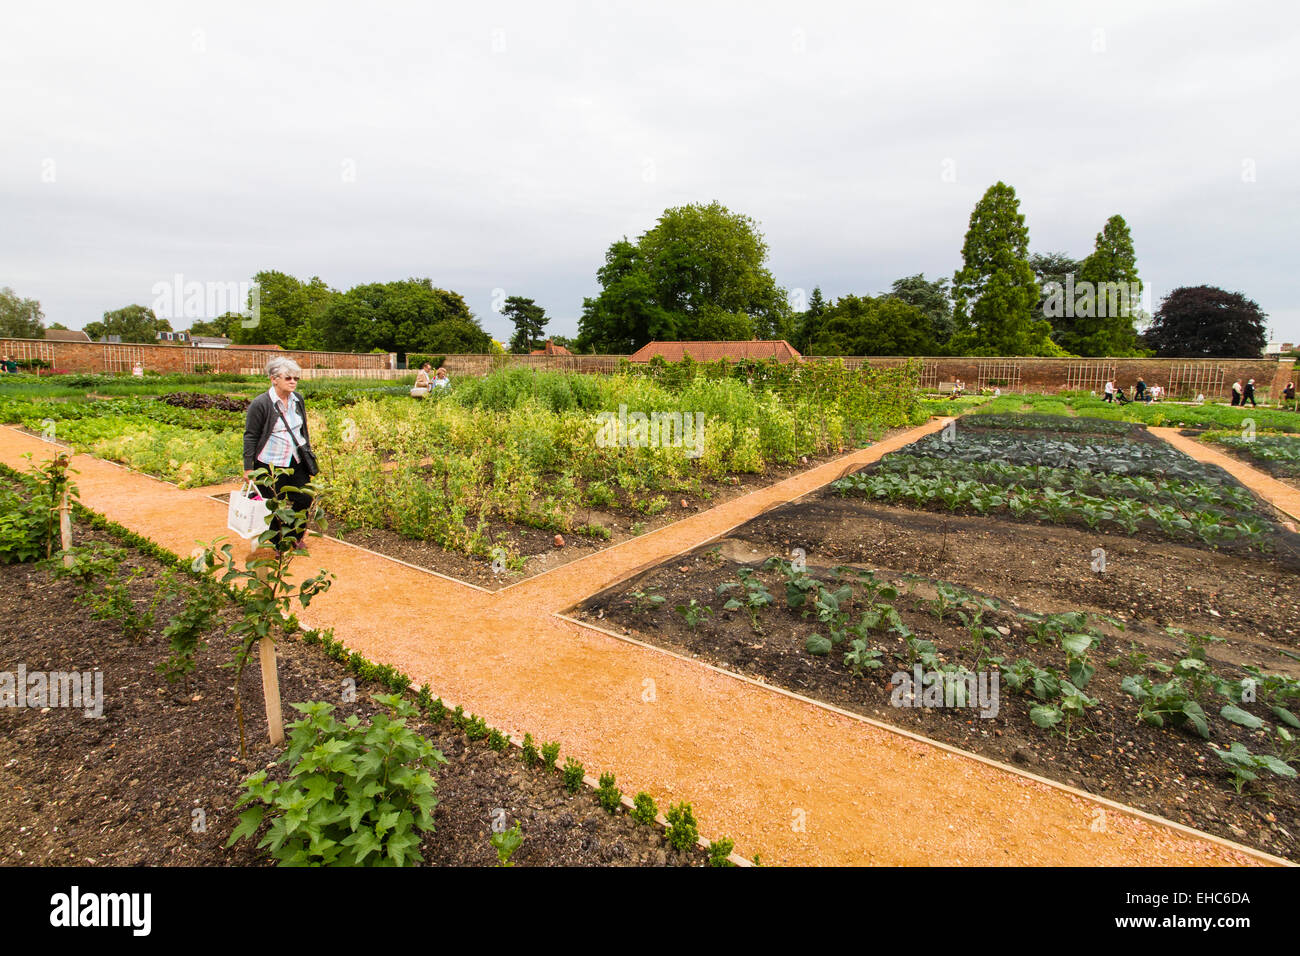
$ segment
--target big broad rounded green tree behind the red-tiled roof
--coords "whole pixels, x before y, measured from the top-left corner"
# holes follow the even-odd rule
[[[767,269],[767,242],[749,216],[718,202],[666,209],[636,243],[624,237],[585,299],[578,342],[634,351],[659,338],[790,338],[785,290]]]

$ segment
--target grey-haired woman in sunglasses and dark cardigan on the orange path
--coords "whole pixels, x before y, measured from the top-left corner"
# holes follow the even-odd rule
[[[285,468],[276,476],[274,485],[265,477],[257,483],[263,498],[273,498],[285,488],[294,511],[302,515],[296,528],[285,528],[283,523],[272,518],[274,545],[278,550],[306,550],[303,538],[307,535],[307,512],[312,496],[306,490],[316,473],[316,459],[311,451],[311,436],[307,432],[307,407],[298,394],[298,380],[303,369],[292,359],[276,358],[266,363],[270,388],[248,403],[244,418],[244,477],[266,466]]]

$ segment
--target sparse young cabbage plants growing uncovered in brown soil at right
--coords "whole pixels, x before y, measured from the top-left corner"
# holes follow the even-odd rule
[[[919,666],[937,676],[936,702],[965,708],[985,702],[976,700],[980,674],[996,669],[1001,683],[1023,700],[1030,722],[1069,743],[1071,735],[1088,732],[1088,713],[1098,705],[1088,689],[1104,662],[1119,678],[1135,717],[1150,727],[1183,728],[1202,739],[1212,730],[1231,734],[1234,726],[1265,734],[1262,747],[1257,736],[1212,750],[1239,792],[1265,773],[1296,777],[1291,763],[1300,756],[1295,713],[1300,680],[1254,665],[1231,675],[1217,670],[1208,649],[1222,641],[1212,635],[1167,627],[1178,648],[1170,663],[1117,653],[1106,633],[1124,628],[1115,618],[1023,611],[946,581],[915,578],[904,592],[870,570],[845,566],[823,576],[784,558],[770,558],[758,568],[738,566],[736,574],[737,580],[716,587],[725,598],[723,613],[744,614],[755,633],[785,611],[798,615],[812,628],[805,650],[857,676]],[[779,575],[775,581],[774,575]],[[653,607],[655,596],[640,593],[642,606]],[[692,630],[712,614],[710,604],[696,601],[676,610]],[[942,632],[949,649],[926,632]]]

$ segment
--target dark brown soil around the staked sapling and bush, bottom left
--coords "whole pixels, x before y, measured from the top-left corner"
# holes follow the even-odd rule
[[[78,542],[110,540],[78,531]],[[147,574],[133,584],[138,604],[155,592],[162,566],[130,550],[133,567]],[[237,822],[233,812],[243,778],[273,763],[280,748],[266,741],[256,663],[243,676],[242,695],[250,752],[239,758],[233,671],[222,630],[208,635],[187,692],[155,667],[166,657],[161,627],[143,640],[121,635],[113,622],[88,619],[74,597],[79,588],[57,581],[43,567],[0,567],[0,670],[101,670],[104,717],[55,708],[0,709],[0,865],[244,866],[266,865],[248,840],[225,849]],[[237,611],[226,611],[228,623]],[[356,679],[356,702],[342,700],[350,672],[318,645],[278,644],[285,719],[290,701],[335,704],[335,717],[377,706],[378,684]],[[634,823],[624,810],[604,812],[586,788],[569,795],[555,773],[523,766],[504,753],[471,741],[450,721],[413,722],[447,758],[437,774],[433,834],[425,835],[428,865],[493,866],[489,844],[494,812],[507,826],[520,822],[524,842],[517,865],[701,865],[702,852],[680,855],[659,827]],[[562,741],[563,743],[563,741]],[[563,754],[562,754],[563,761]],[[198,827],[202,810],[203,827]]]

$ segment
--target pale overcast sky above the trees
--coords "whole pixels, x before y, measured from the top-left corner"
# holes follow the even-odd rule
[[[952,277],[1001,179],[1032,251],[1119,213],[1153,304],[1238,290],[1300,342],[1292,3],[465,7],[8,5],[0,286],[81,328],[177,273],[428,276],[573,334],[667,207],[835,298]]]

